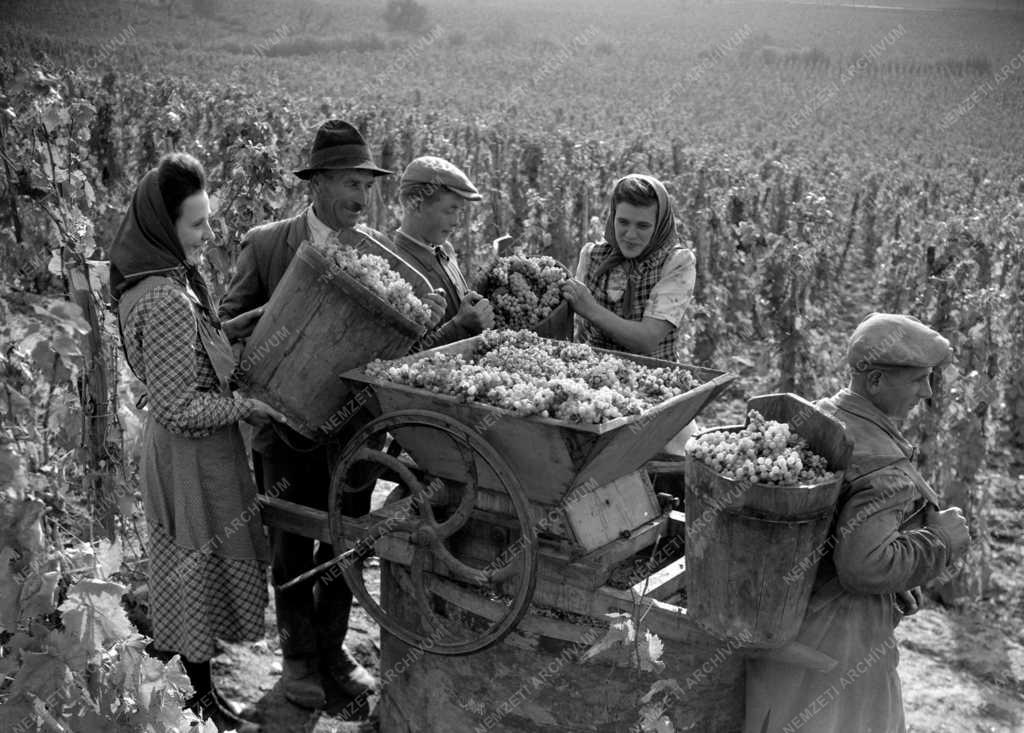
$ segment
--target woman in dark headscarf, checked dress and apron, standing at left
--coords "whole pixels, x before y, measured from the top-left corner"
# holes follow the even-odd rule
[[[239,421],[284,422],[269,405],[232,396],[223,329],[197,262],[213,238],[202,166],[164,156],[138,184],[111,248],[111,291],[122,346],[147,390],[141,490],[148,528],[154,646],[181,655],[188,705],[219,730],[258,730],[215,687],[215,640],[260,639],[266,548]]]

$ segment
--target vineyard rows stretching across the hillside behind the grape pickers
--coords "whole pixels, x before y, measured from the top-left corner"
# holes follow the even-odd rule
[[[0,561],[16,562],[0,590],[20,600],[0,603],[0,729],[33,715],[12,659],[49,643],[71,584],[98,576],[110,585],[71,597],[104,603],[121,584],[131,617],[144,608],[141,386],[105,305],[134,185],[163,153],[203,162],[219,295],[242,235],[305,205],[290,171],[338,117],[385,168],[435,155],[469,174],[483,201],[452,244],[472,282],[504,234],[574,271],[612,180],[665,181],[697,261],[683,360],[740,377],[703,425],[734,422],[752,394],[844,386],[868,312],[946,335],[954,363],[905,427],[976,541],[970,569],[897,630],[908,726],[1024,731],[1020,3],[420,3],[415,32],[389,28],[379,0],[2,3]],[[399,215],[396,176],[380,179],[366,223],[387,233]],[[379,637],[356,615],[357,654],[376,664]],[[119,653],[141,658],[127,621],[114,627]],[[353,733],[279,709],[272,615],[267,631],[225,648],[228,687],[282,730]],[[87,667],[54,688],[69,709],[89,704],[74,690],[131,677]],[[171,720],[174,673],[138,669],[168,696],[131,723]]]

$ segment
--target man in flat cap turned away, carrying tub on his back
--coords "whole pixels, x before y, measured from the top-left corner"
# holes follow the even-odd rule
[[[969,534],[958,508],[939,510],[897,425],[932,395],[932,370],[950,355],[946,339],[908,315],[871,313],[853,332],[850,386],[817,402],[854,448],[798,637],[838,664],[822,674],[749,661],[745,733],[906,730],[893,630],[918,611],[921,586],[964,555]]]

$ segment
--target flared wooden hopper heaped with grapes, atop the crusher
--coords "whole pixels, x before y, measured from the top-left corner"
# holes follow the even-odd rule
[[[637,470],[735,379],[528,331],[484,332],[344,378],[369,386],[382,414],[431,411],[475,430],[542,505]],[[462,470],[456,449],[415,431],[401,444],[430,473]],[[487,466],[477,469],[495,485]]]

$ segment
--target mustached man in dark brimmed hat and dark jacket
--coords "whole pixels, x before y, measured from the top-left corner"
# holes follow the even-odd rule
[[[338,236],[342,244],[375,254],[384,236],[358,222],[374,181],[391,171],[378,168],[370,147],[352,125],[328,120],[313,138],[307,165],[294,171],[309,181],[311,204],[300,214],[251,229],[242,240],[236,272],[219,312],[228,318],[264,305],[303,242],[323,244]],[[441,301],[428,304],[439,316]],[[237,333],[244,337],[252,326]],[[248,333],[247,333],[248,332]],[[253,440],[253,463],[261,489],[286,501],[327,508],[332,458],[369,419],[361,409],[328,445],[312,444],[287,429],[260,430]],[[370,509],[371,491],[345,493],[343,513],[360,516]],[[275,585],[305,572],[334,556],[333,549],[278,529],[270,531],[271,568]],[[284,658],[285,696],[314,708],[326,704],[325,677],[350,698],[366,699],[376,681],[345,649],[352,596],[337,573],[319,576],[275,593],[278,631]]]

